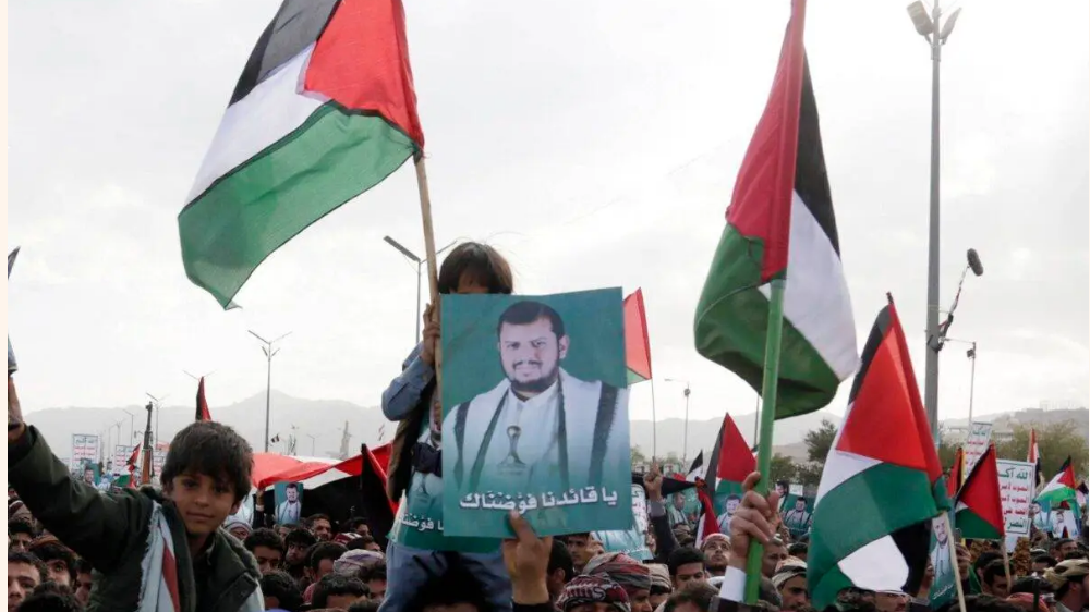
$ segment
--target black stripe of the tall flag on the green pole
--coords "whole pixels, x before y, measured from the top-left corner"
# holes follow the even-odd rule
[[[833,196],[829,193],[828,172],[825,169],[825,151],[821,144],[818,101],[814,99],[813,83],[810,82],[810,62],[804,56],[802,95],[799,100],[799,148],[795,162],[795,191],[828,236],[833,250],[839,256],[840,238],[836,232]]]

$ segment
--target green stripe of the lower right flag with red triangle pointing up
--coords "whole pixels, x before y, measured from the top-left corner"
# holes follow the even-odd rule
[[[841,559],[901,527],[937,514],[925,472],[881,463],[848,478],[814,506],[807,556],[811,592],[824,593],[832,588],[824,582],[838,579],[837,563]],[[819,600],[816,595],[813,600],[819,610],[832,602]]]

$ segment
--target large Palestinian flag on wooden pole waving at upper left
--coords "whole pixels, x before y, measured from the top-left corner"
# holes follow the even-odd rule
[[[401,0],[284,0],[178,216],[225,308],[277,248],[424,148]]]

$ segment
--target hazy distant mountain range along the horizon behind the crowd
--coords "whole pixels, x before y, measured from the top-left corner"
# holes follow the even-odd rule
[[[296,455],[337,456],[346,421],[350,453],[358,452],[361,443],[374,445],[389,441],[397,429],[395,424],[386,420],[377,406],[365,407],[342,400],[302,400],[272,391],[271,406],[270,437],[279,436],[280,439],[278,443],[270,445],[274,452],[286,452],[289,437],[294,436]],[[125,411],[132,413],[133,417],[130,418]],[[192,406],[165,407],[158,415],[159,440],[169,442],[174,433],[193,420],[193,412]],[[213,406],[211,414],[216,420],[230,425],[242,433],[255,450],[264,449],[265,393],[229,406]],[[754,414],[734,415],[734,418],[747,442],[752,443]],[[826,418],[837,425],[840,423],[839,416],[823,411],[776,423],[776,452],[804,460],[806,446],[802,441],[807,432],[815,429]],[[45,408],[27,414],[27,420],[43,431],[60,457],[71,454],[71,440],[75,433],[97,433],[105,439],[108,432],[111,445],[121,444],[131,449],[143,436],[146,419],[144,407],[135,405],[119,408]],[[1090,413],[1086,408],[1025,409],[977,418],[994,423],[996,431],[1008,430],[1016,423],[1046,424],[1067,419],[1074,420],[1082,434],[1087,436]],[[130,423],[133,428],[132,440],[129,439]],[[701,449],[711,449],[719,424],[719,419],[689,421],[688,458],[694,457]],[[944,425],[952,426],[964,424],[965,419],[944,421]],[[155,419],[152,428],[153,431],[156,429]],[[657,438],[658,456],[669,453],[682,455],[685,431],[685,421],[678,418],[663,419],[656,427],[650,420],[632,420],[631,443],[650,455]]]

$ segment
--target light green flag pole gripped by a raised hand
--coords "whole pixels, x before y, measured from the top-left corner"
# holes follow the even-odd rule
[[[756,449],[756,467],[761,473],[758,482],[759,493],[768,490],[768,477],[772,467],[772,429],[776,420],[776,391],[779,382],[779,350],[784,332],[784,279],[772,280],[772,292],[768,296],[768,332],[764,346],[764,378],[762,380],[761,397],[761,436]],[[764,558],[764,546],[751,541],[749,559],[746,564],[746,603],[753,605],[758,600],[761,587],[761,560]]]

